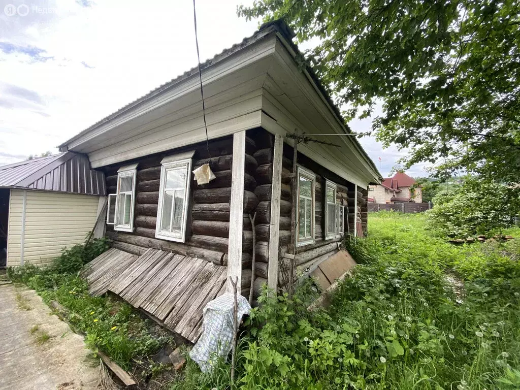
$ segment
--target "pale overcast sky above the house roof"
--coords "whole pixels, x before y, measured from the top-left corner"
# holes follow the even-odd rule
[[[197,0],[201,61],[254,33],[241,0]],[[244,4],[251,1],[243,0]],[[191,0],[0,0],[0,165],[56,146],[196,66]],[[371,121],[354,121],[354,131]],[[402,153],[361,144],[388,175]],[[422,166],[408,172],[425,173]]]

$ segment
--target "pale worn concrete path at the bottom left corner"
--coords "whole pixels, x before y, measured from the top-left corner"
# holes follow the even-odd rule
[[[91,354],[34,291],[0,286],[0,390],[97,389]]]

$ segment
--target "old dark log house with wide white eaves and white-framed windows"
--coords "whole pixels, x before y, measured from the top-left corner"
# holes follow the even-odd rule
[[[308,271],[336,253],[345,234],[366,232],[368,186],[381,175],[355,137],[330,135],[350,129],[313,71],[301,67],[293,36],[282,21],[267,23],[202,63],[205,120],[194,68],[60,146],[86,154],[105,174],[113,248],[202,259],[219,269],[223,289],[231,276],[245,296],[251,285],[257,296],[263,283],[283,288],[280,264]],[[310,141],[298,143],[295,131]],[[215,178],[198,185],[192,171],[203,164]],[[201,267],[187,271],[191,283],[202,280]],[[146,311],[167,323],[167,309]]]

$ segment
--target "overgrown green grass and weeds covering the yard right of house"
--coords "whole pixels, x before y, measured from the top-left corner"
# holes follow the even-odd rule
[[[369,237],[346,242],[361,264],[328,309],[306,310],[308,284],[264,294],[236,382],[226,363],[211,374],[190,363],[172,389],[520,388],[520,229],[505,231],[516,240],[456,246],[425,220],[371,214]]]

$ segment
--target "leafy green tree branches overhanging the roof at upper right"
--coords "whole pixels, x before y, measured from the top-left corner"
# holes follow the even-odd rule
[[[405,168],[437,163],[520,180],[520,2],[514,0],[260,0],[246,18],[284,18],[347,119],[372,114]],[[345,106],[344,106],[345,107]]]

